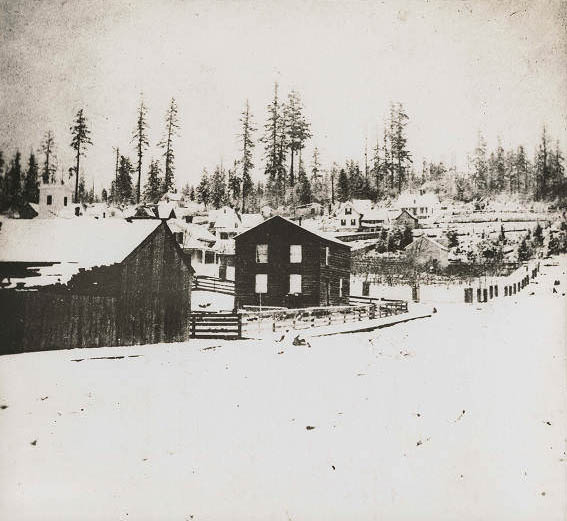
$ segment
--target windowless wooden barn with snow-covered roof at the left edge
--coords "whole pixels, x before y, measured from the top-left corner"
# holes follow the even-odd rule
[[[3,224],[0,353],[188,338],[192,268],[167,223]]]

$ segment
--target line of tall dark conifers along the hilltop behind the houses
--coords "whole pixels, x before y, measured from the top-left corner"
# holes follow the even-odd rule
[[[230,166],[223,164],[212,173],[203,169],[195,185],[186,184],[182,191],[190,199],[205,206],[218,208],[229,204],[240,211],[258,211],[263,204],[273,207],[298,206],[311,202],[334,204],[355,198],[375,201],[392,199],[406,189],[423,188],[447,199],[471,201],[495,194],[511,194],[524,200],[558,201],[567,204],[565,159],[559,143],[543,129],[540,143],[530,154],[523,146],[505,150],[500,142],[488,150],[482,135],[468,157],[468,167],[459,171],[443,162],[413,163],[406,129],[409,116],[401,103],[391,103],[383,132],[373,146],[365,142],[361,162],[347,159],[343,164],[323,165],[317,146],[306,158],[304,151],[313,140],[311,123],[299,92],[291,90],[281,97],[274,85],[273,96],[266,107],[264,123],[257,128],[248,100],[239,118],[239,152]],[[176,190],[175,144],[180,120],[177,103],[171,99],[164,120],[162,139],[157,143],[161,158],[150,158],[144,169],[150,147],[148,108],[140,100],[133,122],[130,143],[132,157],[114,147],[113,180],[108,190],[102,190],[102,200],[113,204],[154,203],[165,193]],[[80,173],[81,159],[92,145],[86,115],[80,109],[70,128],[70,146],[74,166],[69,178],[74,178],[75,200],[97,200],[94,190],[85,188]],[[260,149],[260,159],[254,150]],[[48,131],[37,153],[30,154],[27,167],[16,153],[9,164],[0,164],[0,209],[22,202],[36,202],[39,180],[55,182],[57,158],[53,132]],[[33,156],[33,158],[31,157]],[[258,164],[255,164],[255,163]],[[261,180],[253,181],[253,172],[262,172]],[[61,181],[67,174],[61,173]]]

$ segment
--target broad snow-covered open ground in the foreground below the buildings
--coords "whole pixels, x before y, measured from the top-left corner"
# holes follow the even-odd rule
[[[543,269],[311,348],[0,357],[0,519],[564,520],[567,279]]]

